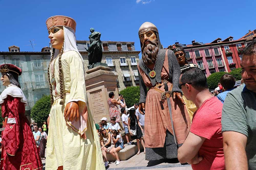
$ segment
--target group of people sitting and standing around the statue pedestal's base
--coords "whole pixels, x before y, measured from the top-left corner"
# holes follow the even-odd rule
[[[146,153],[144,145],[145,115],[139,112],[139,103],[135,103],[134,107],[128,110],[124,97],[119,95],[117,99],[114,99],[114,96],[113,92],[109,93],[110,123],[107,122],[106,117],[102,117],[99,124],[94,122],[100,138],[105,167],[109,164],[107,154],[111,154],[115,158],[116,165],[120,164],[118,152],[125,147],[121,133],[124,133],[124,139],[126,139],[127,145],[133,145],[135,143],[133,140],[136,139],[137,155],[141,153],[140,145],[144,148],[144,154]],[[121,130],[121,126],[123,130]]]

